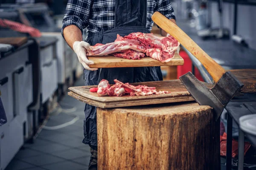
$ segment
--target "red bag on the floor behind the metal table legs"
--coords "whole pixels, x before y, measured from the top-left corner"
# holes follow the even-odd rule
[[[227,153],[227,133],[223,133],[223,136],[220,136],[221,141],[221,156],[226,156]],[[249,142],[244,142],[244,155],[249,150],[251,144]],[[238,142],[232,139],[232,157],[238,155]]]

